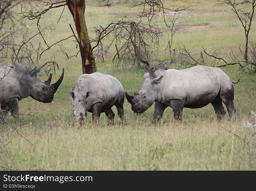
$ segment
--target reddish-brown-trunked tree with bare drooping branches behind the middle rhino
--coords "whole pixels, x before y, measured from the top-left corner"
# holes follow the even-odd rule
[[[42,18],[42,15],[51,9],[63,7],[64,10],[65,6],[68,6],[76,26],[78,38],[76,38],[74,32],[73,36],[79,44],[83,73],[92,73],[97,70],[93,54],[96,53],[101,60],[104,60],[104,56],[106,56],[104,48],[109,48],[113,42],[110,42],[109,45],[104,45],[102,40],[109,38],[109,36],[113,37],[112,40],[115,42],[114,44],[117,53],[113,60],[118,59],[117,66],[120,66],[120,63],[125,61],[122,64],[124,67],[132,60],[135,60],[133,61],[133,64],[138,62],[144,63],[146,66],[150,65],[150,61],[156,52],[155,49],[158,46],[159,37],[161,36],[161,32],[157,25],[152,24],[154,23],[154,18],[159,15],[163,16],[166,26],[172,28],[172,25],[168,24],[168,13],[171,11],[179,12],[187,9],[187,7],[178,7],[174,9],[166,8],[163,4],[163,0],[144,0],[141,3],[130,6],[130,8],[140,5],[143,6],[143,10],[141,11],[141,14],[138,15],[138,19],[118,17],[119,19],[114,19],[112,23],[105,27],[96,27],[95,31],[97,33],[97,38],[90,40],[86,19],[84,17],[85,0],[36,0],[35,3],[37,3],[37,6],[43,8],[43,10],[33,14],[31,14],[31,12],[22,11],[22,15],[27,19],[37,19],[38,30],[40,29],[40,19]],[[111,7],[117,4],[118,3],[116,2],[105,0],[103,1],[103,4],[99,6]],[[142,23],[143,17],[147,17],[148,23]],[[40,35],[48,46],[48,49],[50,49],[45,37],[41,33]],[[159,37],[157,37],[157,35]],[[65,51],[62,52],[65,53]]]

